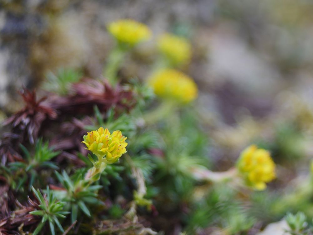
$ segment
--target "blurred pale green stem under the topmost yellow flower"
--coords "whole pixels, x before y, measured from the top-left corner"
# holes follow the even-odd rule
[[[121,66],[121,63],[125,57],[127,48],[117,44],[115,48],[110,52],[106,65],[104,68],[104,77],[108,79],[111,85],[115,85],[117,82],[117,72]]]

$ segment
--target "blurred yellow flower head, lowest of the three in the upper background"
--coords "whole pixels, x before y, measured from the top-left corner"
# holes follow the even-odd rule
[[[198,88],[192,78],[174,69],[160,70],[149,80],[157,96],[188,103],[198,96]]]

